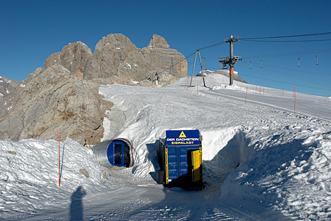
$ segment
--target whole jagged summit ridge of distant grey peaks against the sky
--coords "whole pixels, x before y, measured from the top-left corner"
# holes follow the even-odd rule
[[[177,60],[183,60],[176,64]],[[107,79],[111,76],[143,81],[149,73],[169,69],[168,74],[177,78],[187,75],[187,61],[182,53],[170,48],[167,41],[154,34],[145,48],[137,48],[123,34],[108,34],[95,46],[94,53],[77,41],[69,43],[61,52],[50,55],[43,70],[61,64],[80,79]]]

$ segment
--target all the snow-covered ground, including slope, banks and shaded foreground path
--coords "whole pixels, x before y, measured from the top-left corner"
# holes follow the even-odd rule
[[[0,140],[0,219],[330,220],[331,100],[225,86],[219,74],[205,77],[208,88],[190,80],[100,88],[114,102],[103,140],[133,140],[133,168],[101,168],[68,139],[59,187],[58,142]],[[175,129],[203,135],[202,191],[157,185],[158,138]]]

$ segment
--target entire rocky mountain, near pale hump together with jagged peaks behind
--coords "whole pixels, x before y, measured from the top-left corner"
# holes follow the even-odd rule
[[[179,62],[180,61],[180,62]],[[25,81],[0,79],[0,139],[60,140],[72,138],[91,145],[100,142],[102,122],[111,102],[102,100],[101,84],[156,86],[186,76],[187,61],[171,49],[163,37],[154,35],[145,48],[137,48],[123,34],[109,34],[95,46],[75,42],[53,53]],[[2,83],[2,84],[1,84]]]

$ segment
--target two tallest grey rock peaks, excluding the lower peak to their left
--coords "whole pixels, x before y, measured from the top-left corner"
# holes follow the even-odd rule
[[[157,69],[177,78],[186,76],[187,60],[156,34],[142,49],[123,34],[108,34],[95,46],[93,57],[88,58],[83,79],[119,76],[143,81],[149,78],[149,72],[156,72]]]

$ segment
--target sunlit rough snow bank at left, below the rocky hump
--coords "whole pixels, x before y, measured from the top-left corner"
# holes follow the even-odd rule
[[[78,187],[86,192],[102,188],[102,170],[93,152],[74,140],[0,140],[0,211],[26,212],[68,204]],[[85,169],[89,178],[79,170]],[[0,213],[0,214],[1,214]]]

